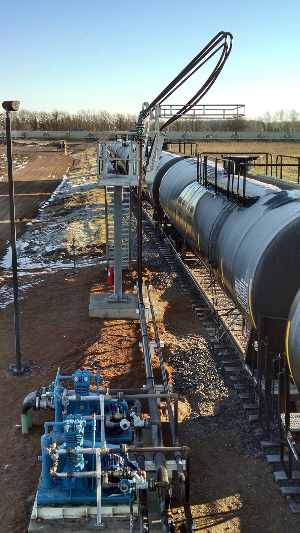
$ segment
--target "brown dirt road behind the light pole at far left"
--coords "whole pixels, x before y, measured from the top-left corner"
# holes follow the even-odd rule
[[[6,147],[0,148],[6,154]],[[13,154],[31,158],[29,163],[14,169],[15,219],[17,237],[26,229],[26,222],[34,217],[38,208],[58,187],[63,175],[72,166],[74,158],[48,146],[13,147]],[[10,244],[10,207],[7,169],[0,182],[0,253]]]

